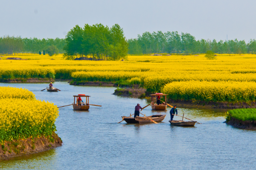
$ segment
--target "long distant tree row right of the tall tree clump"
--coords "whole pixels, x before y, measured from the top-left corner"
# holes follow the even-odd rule
[[[129,39],[128,54],[200,54],[211,50],[214,53],[256,53],[256,40],[246,43],[244,40],[238,41],[220,40],[195,40],[195,37],[188,33],[178,34],[177,31],[163,33],[145,32],[135,39]]]

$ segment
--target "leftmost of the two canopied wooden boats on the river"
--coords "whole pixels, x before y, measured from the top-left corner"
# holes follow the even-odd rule
[[[73,109],[76,111],[88,111],[90,108],[89,104],[89,97],[85,94],[79,94],[79,95],[74,95],[74,103],[73,103]],[[81,97],[85,97],[85,101],[82,103]],[[101,106],[101,105],[93,105],[93,106]]]

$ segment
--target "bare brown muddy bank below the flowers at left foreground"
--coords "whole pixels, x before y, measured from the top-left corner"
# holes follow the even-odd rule
[[[41,136],[34,139],[20,139],[4,142],[0,148],[0,159],[43,152],[62,145],[61,138],[56,133],[52,136]]]

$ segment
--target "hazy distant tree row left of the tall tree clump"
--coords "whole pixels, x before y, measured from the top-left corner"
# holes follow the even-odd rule
[[[63,47],[65,45],[65,39],[59,38],[21,38],[14,36],[0,37],[0,54],[12,55],[15,53],[33,53],[39,54],[39,51],[44,51],[49,46],[55,45],[58,48],[59,53],[64,53]]]

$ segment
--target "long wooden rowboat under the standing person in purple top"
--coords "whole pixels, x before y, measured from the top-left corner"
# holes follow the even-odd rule
[[[154,120],[155,122],[162,122],[163,119],[165,118],[166,114],[156,114],[156,115],[152,115],[152,116],[147,116],[150,119]],[[122,119],[126,122],[126,123],[151,123],[152,121],[150,119],[148,119],[147,117],[126,117],[126,116],[122,116]]]

